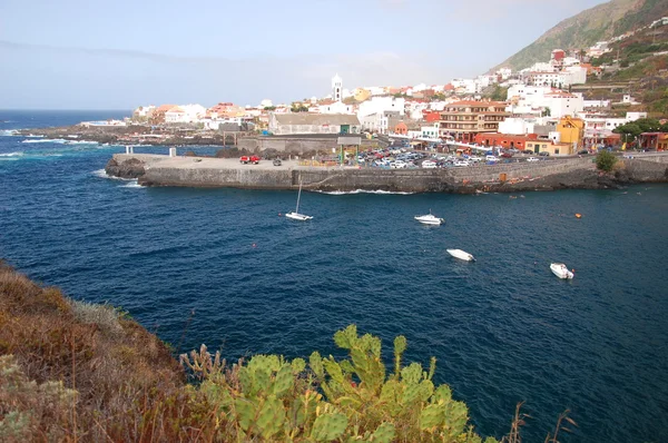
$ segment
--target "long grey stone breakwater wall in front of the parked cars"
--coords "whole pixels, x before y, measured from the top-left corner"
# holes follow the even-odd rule
[[[615,174],[596,170],[592,157],[441,169],[308,167],[296,160],[272,166],[239,165],[236,159],[117,154],[107,174],[138,178],[144,186],[236,187],[322,191],[405,193],[520,191],[615,188],[632,183],[668,181],[668,157],[623,159]]]

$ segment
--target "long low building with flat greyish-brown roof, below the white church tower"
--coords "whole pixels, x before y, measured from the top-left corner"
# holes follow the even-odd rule
[[[293,134],[360,134],[360,119],[354,114],[269,112],[269,132]]]

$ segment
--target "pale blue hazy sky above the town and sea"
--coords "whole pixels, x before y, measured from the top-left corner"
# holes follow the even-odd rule
[[[0,109],[291,102],[475,77],[601,0],[0,0]]]

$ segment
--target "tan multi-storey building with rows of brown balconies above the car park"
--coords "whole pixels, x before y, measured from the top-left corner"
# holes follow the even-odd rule
[[[441,111],[439,135],[472,141],[480,132],[497,132],[499,124],[510,116],[504,101],[455,101]]]

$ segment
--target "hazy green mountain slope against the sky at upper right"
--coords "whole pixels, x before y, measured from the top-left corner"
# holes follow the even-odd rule
[[[587,49],[665,16],[668,16],[668,0],[612,0],[561,21],[490,71],[501,67],[513,71],[524,69],[537,61],[548,61],[552,49]]]

